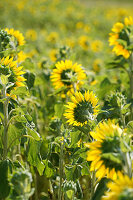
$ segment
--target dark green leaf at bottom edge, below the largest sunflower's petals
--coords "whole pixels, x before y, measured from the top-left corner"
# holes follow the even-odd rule
[[[108,182],[109,182],[109,180],[106,178],[101,179],[101,181],[99,182],[98,187],[92,197],[92,200],[101,200],[101,197],[103,196],[104,192],[107,190],[106,184]]]

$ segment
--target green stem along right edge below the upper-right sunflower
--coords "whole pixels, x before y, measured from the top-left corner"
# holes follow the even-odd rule
[[[130,65],[129,65],[129,80],[130,80],[130,99],[133,99],[133,54],[130,56]],[[133,119],[133,108],[130,106],[131,120]]]

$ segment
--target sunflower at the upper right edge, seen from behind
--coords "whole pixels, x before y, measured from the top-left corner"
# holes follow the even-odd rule
[[[128,59],[131,54],[128,50],[128,46],[130,45],[129,34],[131,25],[133,25],[132,17],[126,17],[124,23],[117,22],[114,24],[112,33],[109,34],[109,45],[114,46],[112,51],[115,52],[117,56],[122,55],[126,59]]]

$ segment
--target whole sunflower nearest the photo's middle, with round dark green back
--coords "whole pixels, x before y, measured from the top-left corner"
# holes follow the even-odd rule
[[[71,97],[72,102],[68,102],[67,109],[64,116],[67,122],[74,126],[83,126],[90,120],[94,120],[98,113],[98,99],[93,92],[89,90],[84,93],[76,92]]]

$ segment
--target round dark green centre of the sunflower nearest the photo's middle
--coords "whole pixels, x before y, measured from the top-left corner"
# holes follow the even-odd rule
[[[93,107],[90,102],[82,101],[74,108],[74,118],[76,121],[84,123],[93,119]]]

